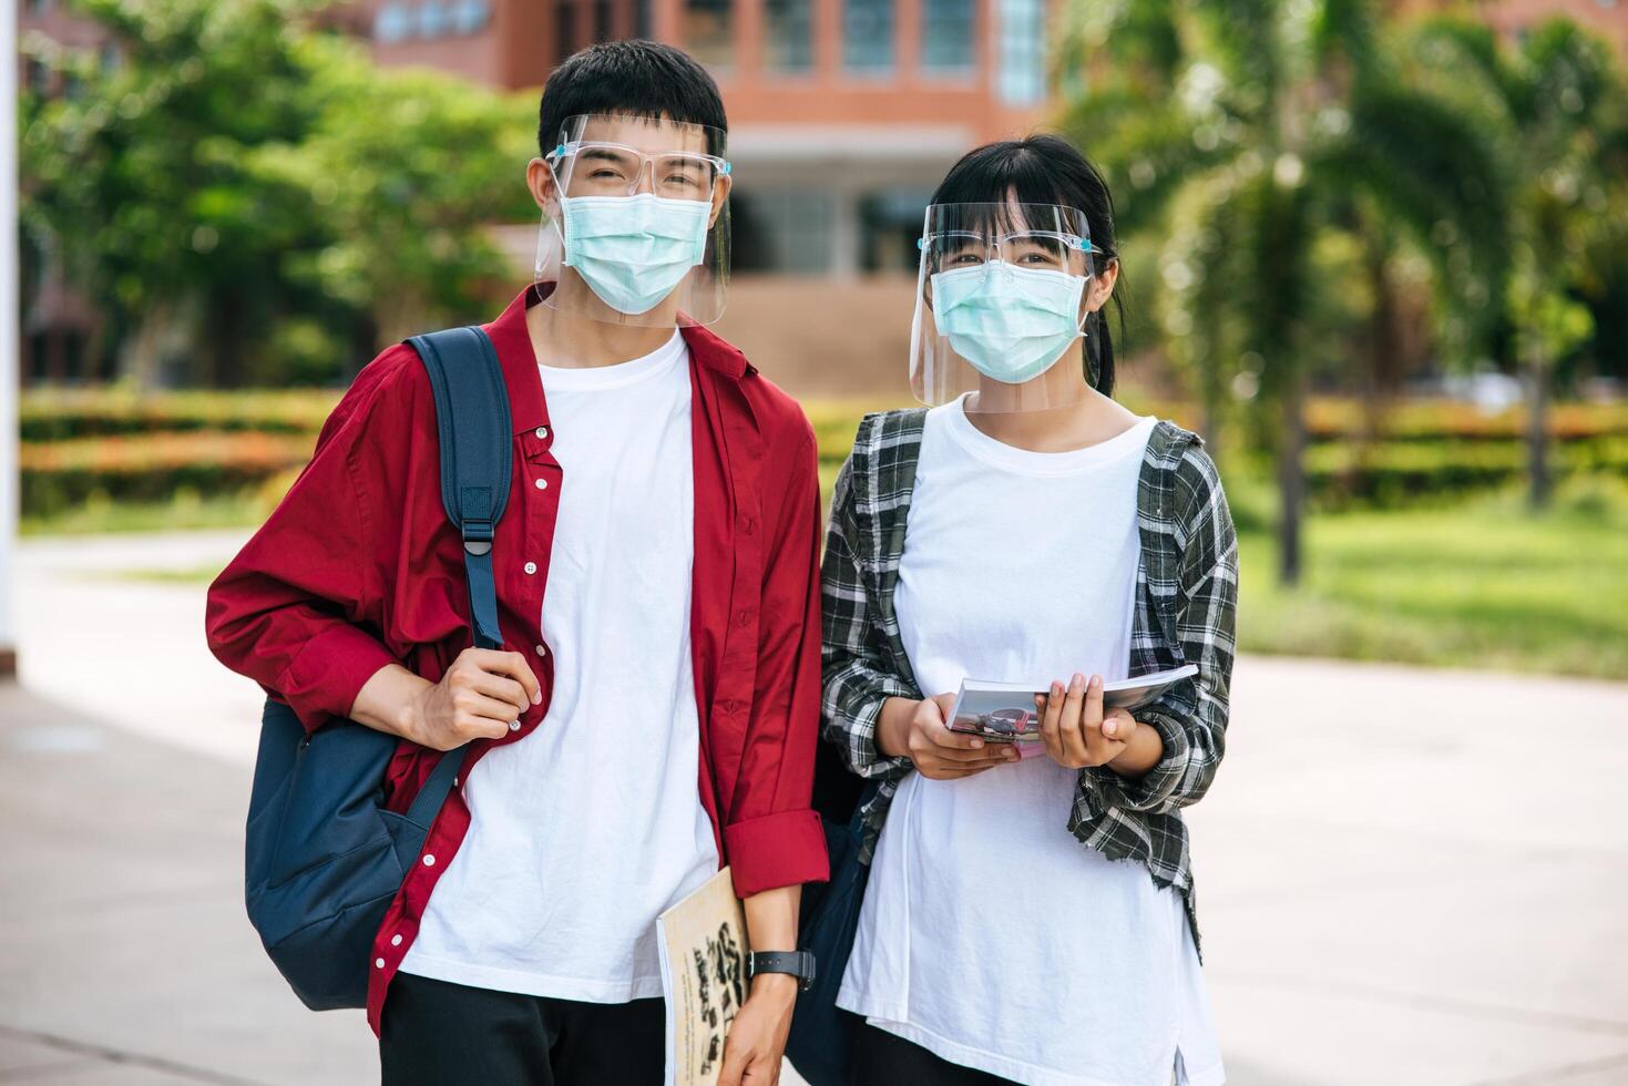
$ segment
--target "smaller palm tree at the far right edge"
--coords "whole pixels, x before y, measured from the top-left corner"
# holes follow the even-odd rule
[[[1548,503],[1550,378],[1592,334],[1579,277],[1608,225],[1612,189],[1628,174],[1628,99],[1610,47],[1569,20],[1550,20],[1512,49],[1477,23],[1442,16],[1415,34],[1415,78],[1473,111],[1496,138],[1512,274],[1501,300],[1527,379],[1530,503]],[[1620,192],[1618,192],[1620,199]],[[1620,231],[1617,231],[1620,233]]]

